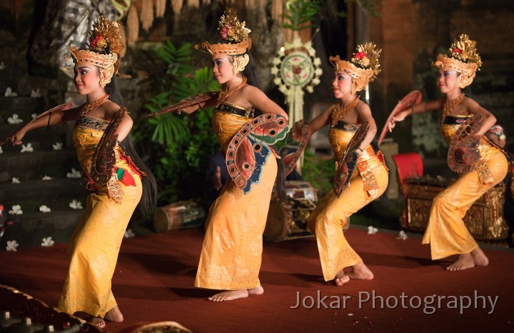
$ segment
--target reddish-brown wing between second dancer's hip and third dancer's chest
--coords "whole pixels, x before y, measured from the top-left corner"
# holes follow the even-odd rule
[[[297,121],[286,138],[286,145],[283,145],[278,153],[286,165],[286,176],[296,167],[296,163],[303,154],[309,138],[307,121],[305,119]]]

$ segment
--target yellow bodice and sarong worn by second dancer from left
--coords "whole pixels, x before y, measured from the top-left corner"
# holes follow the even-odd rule
[[[233,136],[250,120],[219,108],[216,110],[212,123],[223,153],[226,153]],[[262,235],[276,174],[276,158],[271,153],[263,166],[260,182],[254,184],[249,193],[244,195],[232,179],[223,186],[206,219],[206,235],[195,287],[242,290],[261,285],[258,274]]]

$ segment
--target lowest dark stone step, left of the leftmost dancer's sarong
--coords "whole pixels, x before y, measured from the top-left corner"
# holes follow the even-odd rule
[[[33,212],[9,216],[13,225],[6,227],[0,237],[0,250],[6,250],[7,241],[16,240],[19,247],[39,247],[43,238],[51,237],[56,243],[68,242],[84,210]]]

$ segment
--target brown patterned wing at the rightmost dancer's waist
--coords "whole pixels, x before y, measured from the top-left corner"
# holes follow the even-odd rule
[[[480,138],[473,133],[480,128],[481,121],[481,115],[467,118],[453,134],[448,147],[448,167],[454,173],[469,173],[480,159]]]

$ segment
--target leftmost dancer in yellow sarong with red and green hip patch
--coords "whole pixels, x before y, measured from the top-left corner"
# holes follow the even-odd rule
[[[89,48],[71,47],[74,83],[86,103],[54,108],[11,136],[12,143],[19,145],[29,130],[75,122],[74,147],[86,187],[94,193],[87,197],[84,215],[69,242],[70,266],[58,307],[98,327],[104,327],[105,320],[124,319],[111,291],[121,241],[141,195],[147,212],[156,198],[155,180],[133,149],[133,121],[120,106],[114,74],[123,48],[119,25],[100,16],[89,36]]]

